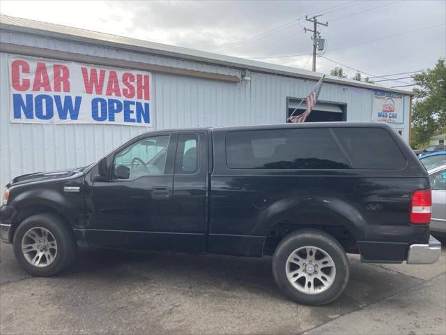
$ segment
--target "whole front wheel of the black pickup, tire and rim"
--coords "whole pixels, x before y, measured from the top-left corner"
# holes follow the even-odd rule
[[[53,276],[75,260],[74,234],[54,214],[37,214],[20,223],[14,234],[14,254],[33,276]]]

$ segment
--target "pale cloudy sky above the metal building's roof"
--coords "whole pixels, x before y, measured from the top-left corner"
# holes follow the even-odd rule
[[[5,15],[311,70],[305,15],[328,41],[317,70],[371,76],[432,68],[446,56],[446,1],[6,1]],[[324,58],[325,57],[325,58]],[[337,62],[337,63],[336,63]],[[367,76],[363,73],[363,77]],[[411,83],[394,75],[394,87]],[[375,78],[380,80],[382,78]],[[411,87],[407,87],[410,89]]]

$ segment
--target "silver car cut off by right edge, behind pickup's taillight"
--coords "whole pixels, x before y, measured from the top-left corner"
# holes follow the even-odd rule
[[[446,164],[429,170],[432,189],[431,232],[446,237]]]

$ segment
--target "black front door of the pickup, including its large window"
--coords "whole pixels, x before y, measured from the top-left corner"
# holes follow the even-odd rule
[[[114,154],[110,176],[93,181],[91,246],[174,250],[171,216],[178,132],[138,137]]]

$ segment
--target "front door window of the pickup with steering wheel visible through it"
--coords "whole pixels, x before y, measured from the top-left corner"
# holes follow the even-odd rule
[[[146,137],[114,156],[114,179],[137,179],[164,174],[169,135]]]

